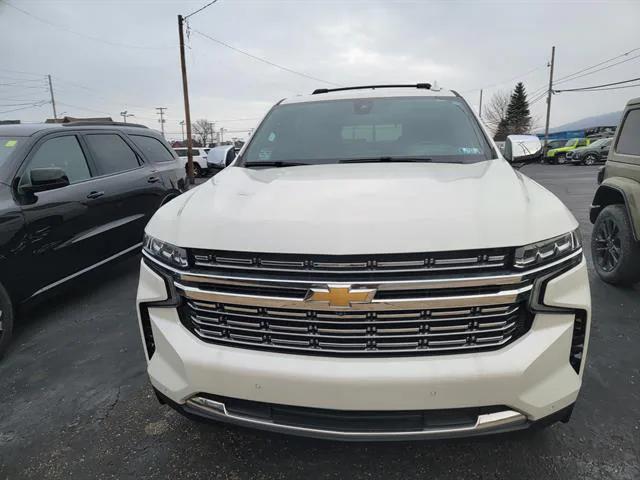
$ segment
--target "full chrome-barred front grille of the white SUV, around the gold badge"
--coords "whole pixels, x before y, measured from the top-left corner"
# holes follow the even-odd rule
[[[364,266],[355,264],[359,258],[332,257],[331,264],[321,264],[331,270],[320,271],[314,269],[326,257],[301,258],[294,265],[293,255],[247,253],[241,263],[237,253],[218,252],[206,254],[215,264],[204,265],[203,255],[191,251],[193,267],[181,271],[145,253],[146,261],[171,285],[180,321],[197,338],[237,348],[324,356],[455,354],[504,347],[531,326],[529,300],[532,292],[539,295],[536,279],[582,259],[579,250],[516,271],[506,266],[513,261],[512,252],[415,254],[404,261],[416,256],[450,260],[447,265],[454,270],[425,270],[424,263],[407,271],[408,263],[397,263],[402,256],[392,255],[377,256],[375,265],[368,263],[366,271],[359,271],[354,270]],[[472,257],[495,265],[465,270],[461,259]],[[220,267],[221,259],[241,268]],[[275,261],[289,263],[265,263]],[[388,264],[381,267],[383,261],[396,262],[393,271],[384,270]],[[339,303],[340,293],[334,302],[334,289],[346,290],[348,298],[356,294],[355,300]],[[321,295],[315,298],[318,291]],[[370,295],[358,296],[361,292]]]

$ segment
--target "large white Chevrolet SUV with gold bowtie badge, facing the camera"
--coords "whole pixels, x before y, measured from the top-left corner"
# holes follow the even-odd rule
[[[567,421],[591,315],[577,229],[455,92],[283,100],[147,225],[151,383],[192,417],[323,438]]]

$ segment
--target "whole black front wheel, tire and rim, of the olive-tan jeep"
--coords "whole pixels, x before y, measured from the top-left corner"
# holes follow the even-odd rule
[[[612,285],[640,281],[640,243],[624,205],[605,207],[593,226],[591,254],[600,278]]]

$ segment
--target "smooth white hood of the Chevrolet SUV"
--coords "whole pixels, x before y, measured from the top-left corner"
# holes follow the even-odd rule
[[[146,231],[182,247],[372,254],[518,246],[577,225],[553,194],[491,160],[228,167]]]

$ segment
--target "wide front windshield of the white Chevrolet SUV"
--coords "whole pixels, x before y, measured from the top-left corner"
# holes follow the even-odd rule
[[[474,163],[494,155],[458,97],[358,98],[274,107],[237,165]]]

